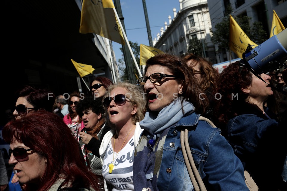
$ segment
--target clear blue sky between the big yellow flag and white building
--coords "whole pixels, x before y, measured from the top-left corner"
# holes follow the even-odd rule
[[[145,44],[149,46],[142,0],[120,0],[120,4],[128,40],[137,42],[138,45]],[[176,8],[176,12],[178,12],[178,0],[146,0],[152,39],[156,37],[157,33],[160,33],[161,27],[164,27],[164,22],[167,21],[168,23],[169,15],[172,19],[174,18],[173,8]],[[122,52],[120,51],[122,45],[117,42],[112,42],[112,44],[116,60],[122,58]]]

